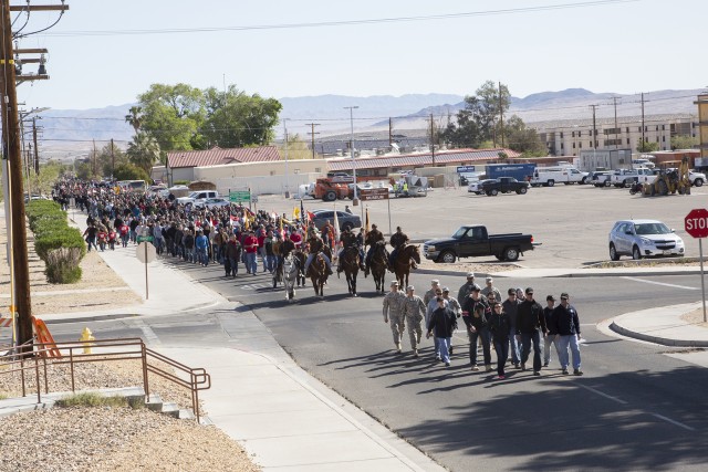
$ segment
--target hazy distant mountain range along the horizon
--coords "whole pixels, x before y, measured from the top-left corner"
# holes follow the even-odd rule
[[[648,115],[696,115],[694,101],[702,90],[658,91],[644,94],[644,113]],[[613,98],[616,97],[615,101]],[[291,127],[303,128],[316,123],[319,139],[327,135],[350,132],[350,109],[355,118],[357,135],[388,129],[392,118],[396,133],[417,130],[425,133],[426,120],[433,114],[439,123],[454,118],[465,106],[465,97],[449,94],[408,94],[402,96],[377,95],[353,97],[344,95],[319,95],[280,98],[283,104],[281,118],[292,123]],[[523,98],[512,97],[508,116],[519,115],[525,123],[552,123],[568,119],[591,119],[595,107],[597,118],[639,116],[642,96],[613,93],[593,93],[584,88],[561,92],[542,92]],[[92,109],[50,109],[38,119],[41,126],[40,153],[43,158],[76,157],[91,151],[93,141],[103,147],[111,138],[121,148],[127,147],[133,128],[125,123],[125,115],[134,104],[107,106]],[[27,126],[27,125],[25,125]],[[282,135],[282,125],[277,129]],[[306,138],[306,136],[303,136]]]

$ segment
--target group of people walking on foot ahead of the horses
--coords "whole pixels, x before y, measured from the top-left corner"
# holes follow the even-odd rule
[[[485,289],[475,283],[475,274],[467,274],[467,281],[459,289],[457,298],[450,296],[448,287],[441,287],[433,280],[430,290],[423,298],[415,294],[415,287],[406,287],[405,295],[398,283],[391,283],[391,292],[384,296],[384,322],[391,325],[397,353],[402,353],[402,339],[408,326],[413,355],[419,357],[423,326],[426,337],[434,339],[436,360],[451,365],[452,334],[461,318],[469,344],[469,363],[472,371],[491,373],[491,352],[496,353],[496,379],[504,379],[507,361],[514,368],[527,370],[529,358],[534,376],[541,375],[543,367],[551,364],[551,346],[555,347],[558,361],[563,375],[572,373],[582,376],[580,339],[581,327],[577,311],[570,303],[566,292],[546,296],[543,307],[534,298],[532,287],[511,287],[502,301],[501,292],[493,285],[493,279],[486,279]],[[481,345],[481,346],[479,346]],[[481,347],[482,363],[478,365],[478,347]],[[570,355],[569,355],[570,349]],[[533,354],[531,354],[533,350]],[[510,357],[511,355],[511,357]],[[572,357],[572,364],[571,364]]]

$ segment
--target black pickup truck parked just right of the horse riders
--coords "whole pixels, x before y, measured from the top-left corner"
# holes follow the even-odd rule
[[[540,243],[531,234],[489,234],[481,224],[466,224],[447,239],[435,239],[423,244],[426,259],[435,262],[455,262],[458,258],[493,255],[500,261],[516,261],[519,254],[532,251]]]

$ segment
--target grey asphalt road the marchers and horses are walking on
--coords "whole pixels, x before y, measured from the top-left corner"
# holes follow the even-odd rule
[[[300,366],[450,470],[705,470],[705,369],[662,354],[675,349],[595,327],[629,311],[694,301],[697,276],[498,279],[500,289],[532,285],[539,298],[568,291],[585,338],[584,377],[561,376],[553,359],[541,378],[511,370],[500,382],[469,370],[460,334],[450,369],[433,361],[430,342],[419,359],[396,355],[371,279],[360,281],[357,298],[344,295],[345,282],[334,277],[324,300],[306,287],[289,304],[262,274],[232,281],[217,266],[184,270],[247,305],[240,310],[252,310]],[[464,282],[437,277],[454,292]],[[415,274],[413,283],[423,292],[429,279]],[[94,331],[220,345],[229,342],[220,319],[230,316],[239,311],[108,321]],[[74,324],[51,328],[56,337],[80,332]]]

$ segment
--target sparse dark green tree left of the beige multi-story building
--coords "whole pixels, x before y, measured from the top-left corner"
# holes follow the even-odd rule
[[[506,85],[485,82],[476,95],[465,97],[465,107],[457,113],[442,138],[452,147],[480,147],[485,140],[501,143],[500,115],[509,109],[511,94]]]

